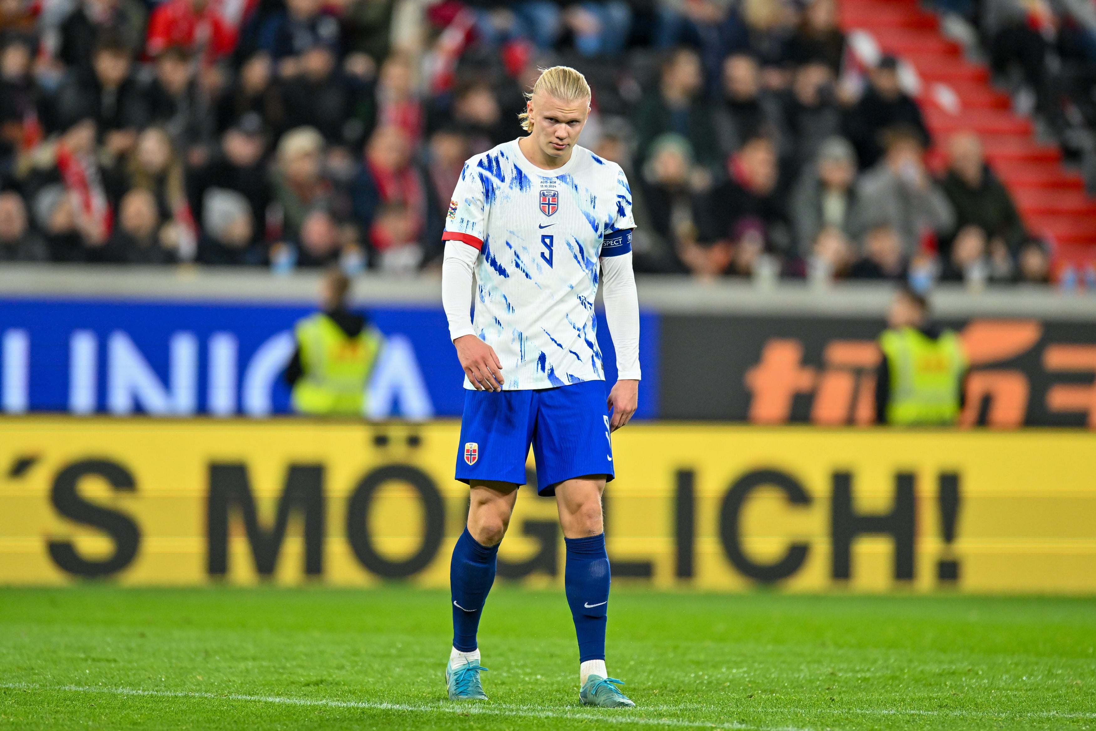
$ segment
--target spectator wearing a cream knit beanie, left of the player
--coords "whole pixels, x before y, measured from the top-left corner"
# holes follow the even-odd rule
[[[282,210],[282,236],[299,240],[300,226],[310,208],[329,203],[332,185],[321,173],[323,137],[311,127],[297,127],[282,136],[272,176],[273,197]]]

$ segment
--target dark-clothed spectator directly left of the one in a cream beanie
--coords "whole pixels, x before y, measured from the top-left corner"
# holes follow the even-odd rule
[[[203,219],[202,202],[205,192],[219,187],[240,193],[248,199],[252,214],[252,230],[256,237],[264,233],[266,207],[270,205],[270,185],[264,164],[266,138],[262,119],[248,113],[221,135],[220,151],[209,164],[194,170],[187,176],[191,206],[194,217]]]

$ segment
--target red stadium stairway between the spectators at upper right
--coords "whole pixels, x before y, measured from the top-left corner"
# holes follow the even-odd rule
[[[1061,151],[1034,138],[1031,121],[1012,112],[1006,94],[990,84],[989,70],[963,58],[917,0],[841,0],[841,25],[854,57],[879,53],[901,58],[903,82],[914,91],[933,133],[929,163],[944,164],[943,145],[960,129],[982,137],[990,165],[1013,194],[1032,233],[1054,250],[1054,270],[1096,263],[1096,198],[1081,175],[1062,167]],[[868,58],[865,58],[865,57]]]

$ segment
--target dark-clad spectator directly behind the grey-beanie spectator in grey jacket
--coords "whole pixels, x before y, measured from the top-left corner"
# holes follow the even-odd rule
[[[822,140],[841,133],[841,108],[824,65],[803,64],[791,79],[791,93],[784,104],[785,148],[798,169],[815,158]]]

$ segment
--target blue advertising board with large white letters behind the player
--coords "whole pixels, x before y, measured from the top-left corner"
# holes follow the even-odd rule
[[[266,416],[289,412],[283,380],[308,307],[240,302],[0,299],[0,402],[27,411]],[[368,416],[458,416],[463,375],[439,307],[370,307],[386,335]],[[658,415],[659,320],[641,315],[638,418]],[[604,315],[606,388],[616,358]]]

